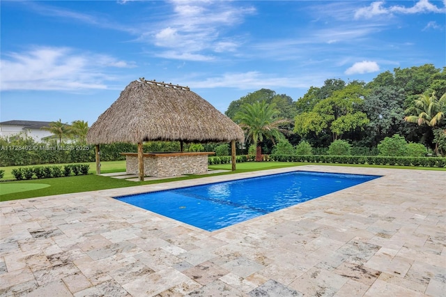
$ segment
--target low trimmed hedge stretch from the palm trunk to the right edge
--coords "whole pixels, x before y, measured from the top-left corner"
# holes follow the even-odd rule
[[[277,162],[322,162],[420,167],[445,167],[446,165],[446,158],[385,157],[376,155],[270,155],[269,160]]]

